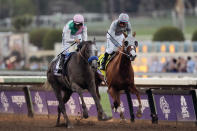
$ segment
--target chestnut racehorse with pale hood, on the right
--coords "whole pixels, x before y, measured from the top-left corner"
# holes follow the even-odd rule
[[[123,112],[120,108],[120,92],[124,90],[127,95],[129,106],[131,106],[130,93],[135,93],[139,102],[137,117],[141,117],[141,99],[139,92],[134,84],[134,71],[131,64],[136,57],[136,47],[138,43],[134,37],[127,37],[122,47],[116,52],[115,57],[106,67],[106,82],[108,93],[114,100],[112,108],[120,112],[120,117],[124,119]],[[129,97],[129,98],[128,98]]]

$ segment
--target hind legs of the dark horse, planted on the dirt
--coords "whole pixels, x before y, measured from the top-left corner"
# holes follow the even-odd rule
[[[57,100],[59,101],[57,126],[59,125],[59,122],[60,122],[60,112],[62,112],[67,128],[72,128],[72,125],[71,125],[71,123],[68,119],[68,116],[66,114],[66,108],[65,108],[65,105],[64,105],[64,102],[63,102],[61,90],[60,89],[55,90],[55,95],[56,95]]]

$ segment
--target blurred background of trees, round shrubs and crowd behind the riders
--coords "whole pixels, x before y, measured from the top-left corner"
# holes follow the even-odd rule
[[[136,73],[197,72],[197,0],[0,0],[0,70],[46,71],[76,13],[104,53],[106,32],[122,12],[139,41]]]

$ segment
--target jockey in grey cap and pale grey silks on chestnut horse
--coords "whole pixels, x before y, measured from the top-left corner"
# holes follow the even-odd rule
[[[127,36],[131,35],[131,24],[129,16],[121,13],[117,20],[114,20],[107,33],[107,47],[101,63],[101,70],[105,70],[105,64],[109,55],[117,51],[117,46],[122,46],[122,41]]]

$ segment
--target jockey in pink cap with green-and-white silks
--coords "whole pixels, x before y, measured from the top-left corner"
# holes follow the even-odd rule
[[[84,17],[76,14],[73,20],[70,20],[63,28],[62,33],[62,50],[57,73],[62,73],[64,59],[66,53],[74,52],[77,46],[82,42],[87,41],[87,27],[84,25]],[[73,43],[76,43],[71,47]]]

